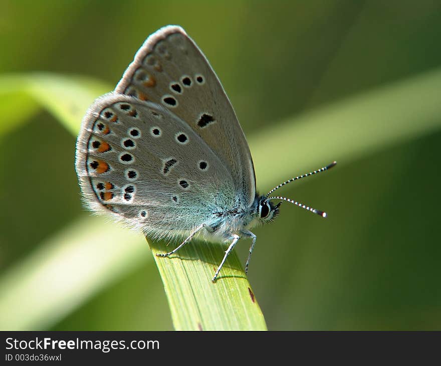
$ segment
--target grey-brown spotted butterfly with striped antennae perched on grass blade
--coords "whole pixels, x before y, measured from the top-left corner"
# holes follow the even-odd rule
[[[153,33],[111,93],[83,118],[75,167],[84,201],[96,213],[153,239],[195,237],[228,243],[212,281],[241,238],[273,221],[286,197],[256,192],[250,148],[224,88],[205,56],[179,26]],[[274,200],[281,202],[275,204]]]

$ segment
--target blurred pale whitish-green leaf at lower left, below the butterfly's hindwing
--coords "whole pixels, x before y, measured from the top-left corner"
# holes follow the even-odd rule
[[[98,217],[74,222],[0,278],[0,328],[45,329],[148,260],[136,233]]]

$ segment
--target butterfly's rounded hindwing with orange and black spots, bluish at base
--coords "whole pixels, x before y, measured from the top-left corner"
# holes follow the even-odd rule
[[[167,108],[132,96],[111,93],[91,106],[76,168],[93,211],[146,234],[189,230],[235,201],[231,173],[202,138]]]

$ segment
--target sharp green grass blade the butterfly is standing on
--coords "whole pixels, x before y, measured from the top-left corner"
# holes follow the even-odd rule
[[[176,330],[267,329],[236,252],[228,257],[217,281],[211,282],[227,247],[195,241],[170,258],[159,258],[156,253],[170,251],[170,246],[163,242],[150,246]]]

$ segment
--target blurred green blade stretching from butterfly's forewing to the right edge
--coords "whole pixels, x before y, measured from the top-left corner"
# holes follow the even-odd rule
[[[333,160],[351,163],[439,129],[440,88],[441,70],[436,69],[262,129],[250,139],[258,183],[270,187],[268,171],[272,185]],[[268,149],[253,146],[269,146],[274,158],[268,159]]]

